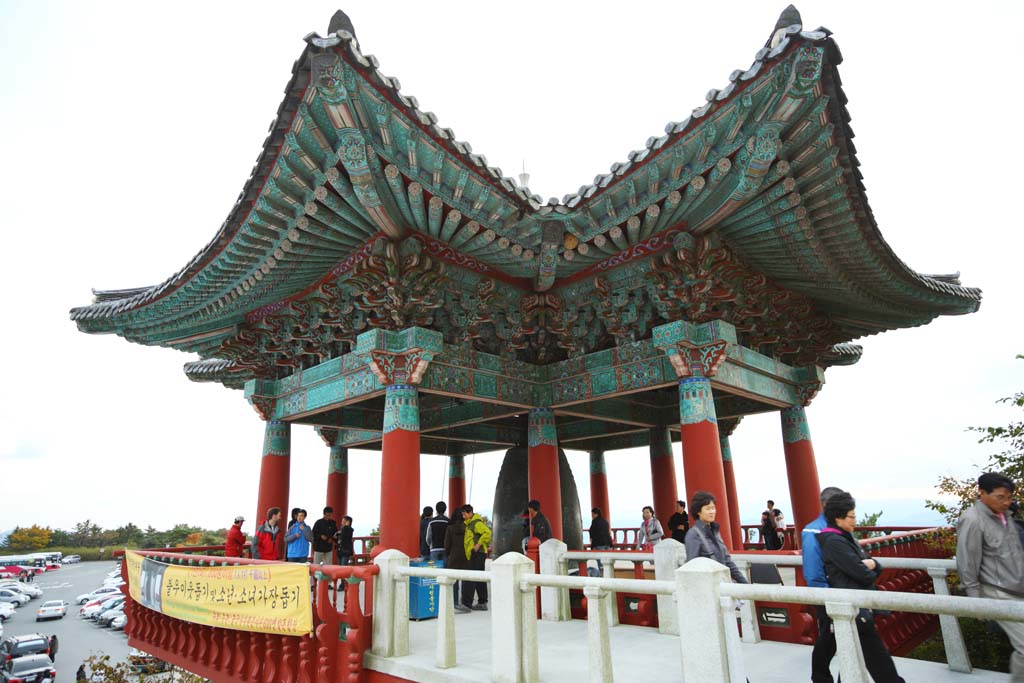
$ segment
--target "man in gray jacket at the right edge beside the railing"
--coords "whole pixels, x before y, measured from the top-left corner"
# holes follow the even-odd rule
[[[1024,600],[1024,547],[1009,515],[1014,482],[997,472],[978,477],[978,502],[956,524],[956,571],[972,598]],[[999,622],[1014,646],[1010,672],[1024,683],[1024,623]]]

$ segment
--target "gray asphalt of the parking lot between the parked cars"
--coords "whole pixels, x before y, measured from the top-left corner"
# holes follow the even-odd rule
[[[106,572],[118,564],[114,562],[83,562],[67,564],[55,571],[36,577],[35,586],[43,595],[18,607],[13,617],[4,625],[4,637],[40,633],[49,637],[56,634],[58,646],[56,683],[73,683],[79,665],[90,655],[109,654],[112,661],[128,658],[128,639],[123,631],[113,631],[80,620],[79,605],[75,598],[88,593],[103,583]],[[36,609],[46,600],[65,600],[70,603],[68,615],[62,620],[36,622]]]

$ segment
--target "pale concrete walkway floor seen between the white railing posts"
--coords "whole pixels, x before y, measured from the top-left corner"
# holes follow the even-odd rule
[[[428,683],[489,681],[490,612],[456,614],[458,666],[434,667],[437,622],[410,625],[410,654],[390,659],[367,654],[366,666],[392,676]],[[541,680],[548,683],[587,680],[587,623],[540,622]],[[678,683],[682,679],[679,640],[647,628],[618,626],[610,631],[612,666],[616,681]],[[763,641],[743,645],[746,676],[753,683],[792,683],[810,680],[811,648],[805,645]],[[1007,674],[975,671],[955,674],[945,665],[898,658],[896,668],[907,681],[928,683],[1009,681]],[[834,672],[836,669],[834,668]]]

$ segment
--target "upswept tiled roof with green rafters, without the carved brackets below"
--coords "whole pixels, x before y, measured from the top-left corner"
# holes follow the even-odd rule
[[[787,9],[783,17],[784,23],[799,14]],[[215,352],[215,340],[231,326],[346,272],[368,253],[367,245],[394,228],[390,217],[368,213],[365,198],[356,198],[358,188],[352,193],[352,179],[361,172],[373,177],[376,190],[394,193],[385,198],[385,208],[407,226],[401,229],[426,232],[428,217],[414,215],[416,207],[404,203],[406,194],[413,197],[415,190],[429,206],[430,234],[461,249],[460,264],[490,268],[508,282],[536,279],[541,291],[557,289],[560,282],[650,253],[647,238],[667,227],[658,223],[659,215],[664,221],[672,207],[684,206],[706,184],[729,173],[741,175],[746,162],[739,158],[750,156],[743,148],[748,133],[736,133],[744,117],[753,116],[752,109],[764,116],[779,106],[784,92],[771,94],[778,91],[773,81],[790,78],[807,54],[819,60],[816,90],[793,104],[803,108],[799,125],[780,124],[772,133],[790,157],[785,182],[792,186],[771,201],[768,190],[759,190],[731,213],[684,213],[678,224],[715,231],[751,269],[813,300],[849,339],[977,310],[979,290],[964,287],[958,278],[918,273],[882,237],[857,168],[838,72],[842,55],[829,32],[804,31],[799,23],[776,29],[754,62],[733,71],[689,117],[669,123],[665,134],[648,138],[643,148],[562,203],[542,206],[539,197],[488,166],[485,157],[438,126],[433,114],[421,111],[415,97],[401,93],[397,79],[381,74],[377,60],[362,54],[347,17],[336,14],[326,37],[306,36],[253,172],[213,240],[161,285],[95,292],[94,302],[74,308],[71,317],[85,332]],[[341,59],[340,75],[326,74],[327,62],[317,59],[335,56]],[[812,59],[805,61],[813,66]],[[346,158],[344,139],[328,135],[332,122],[323,108],[310,105],[330,101],[332,88],[351,100],[354,119],[345,129],[358,131],[361,148],[373,152],[368,159]],[[738,123],[726,135],[732,120]],[[411,153],[391,139],[395,131],[412,140],[404,142]],[[440,161],[428,163],[431,155]],[[776,163],[773,169],[778,168]],[[784,175],[776,173],[776,188],[785,184]],[[473,182],[482,187],[475,203],[464,194]],[[742,189],[739,182],[736,193]],[[709,195],[711,189],[698,203]],[[340,216],[343,229],[332,227],[328,214]],[[317,226],[326,227],[317,232]],[[545,233],[545,226],[557,229]]]

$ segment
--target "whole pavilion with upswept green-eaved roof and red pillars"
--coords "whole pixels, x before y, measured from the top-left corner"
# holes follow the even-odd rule
[[[804,407],[825,370],[856,362],[860,337],[980,305],[886,244],[839,48],[792,6],[689,117],[546,204],[402,94],[344,13],[305,42],[213,240],[165,282],[71,311],[82,332],[198,354],[189,379],[244,389],[265,428],[259,519],[288,507],[293,425],[330,446],[336,510],[348,449],[383,452],[381,544],[408,555],[421,454],[449,458],[456,506],[464,457],[509,450],[508,476],[568,541],[560,447],[590,453],[607,510],[604,454],[649,446],[667,518],[681,441],[687,495],[712,492],[738,545],[729,434],[777,411],[803,526],[819,489]]]

